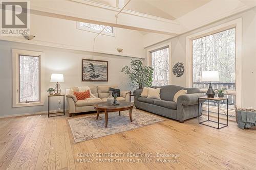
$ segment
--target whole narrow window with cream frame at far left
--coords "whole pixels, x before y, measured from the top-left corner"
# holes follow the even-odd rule
[[[12,50],[13,107],[44,104],[44,53]]]

